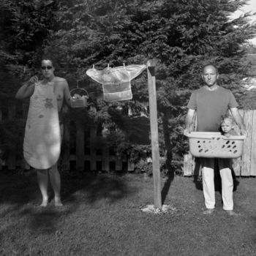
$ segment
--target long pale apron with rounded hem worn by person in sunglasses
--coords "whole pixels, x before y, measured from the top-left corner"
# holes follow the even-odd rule
[[[61,132],[54,83],[35,84],[26,121],[23,154],[36,169],[56,164],[61,151]]]

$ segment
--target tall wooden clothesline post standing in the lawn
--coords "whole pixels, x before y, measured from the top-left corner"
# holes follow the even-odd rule
[[[159,168],[159,142],[158,142],[158,122],[157,122],[157,91],[155,78],[155,61],[148,60],[148,95],[150,111],[150,129],[151,129],[151,151],[154,179],[154,207],[162,209],[161,197],[161,177]]]

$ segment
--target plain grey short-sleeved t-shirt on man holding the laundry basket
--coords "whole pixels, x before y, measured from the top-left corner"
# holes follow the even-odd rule
[[[187,108],[196,110],[198,132],[219,132],[222,115],[238,103],[230,90],[219,87],[209,91],[202,87],[192,92]]]

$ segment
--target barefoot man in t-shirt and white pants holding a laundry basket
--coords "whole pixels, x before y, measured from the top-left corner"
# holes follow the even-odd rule
[[[186,127],[184,134],[192,131],[192,123],[195,113],[197,114],[198,132],[219,132],[222,115],[227,110],[241,129],[241,134],[246,135],[244,120],[238,113],[238,103],[230,90],[218,85],[218,69],[214,64],[207,64],[202,69],[204,86],[192,92],[187,108]],[[237,215],[233,211],[233,178],[231,170],[223,159],[219,160],[219,173],[222,178],[222,201],[223,209],[229,215]],[[203,176],[203,195],[205,198],[206,211],[203,214],[212,214],[215,207],[214,189],[214,159],[201,158]]]

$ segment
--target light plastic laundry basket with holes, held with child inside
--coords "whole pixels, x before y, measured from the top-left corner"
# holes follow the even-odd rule
[[[243,153],[245,136],[221,135],[220,132],[191,132],[189,151],[194,157],[238,158]]]

